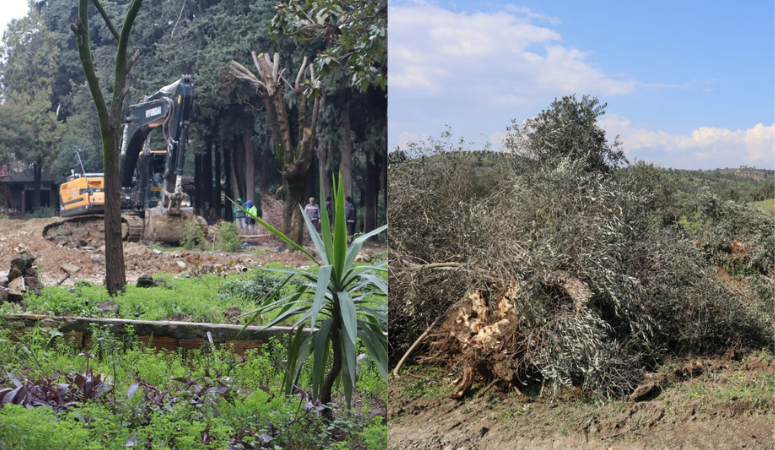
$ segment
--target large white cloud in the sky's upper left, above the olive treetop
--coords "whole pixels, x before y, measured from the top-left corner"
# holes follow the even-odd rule
[[[433,3],[391,4],[389,15],[392,90],[524,105],[574,93],[627,94],[638,85],[595,67],[557,31],[533,23],[556,25],[557,18],[529,8],[468,13]]]

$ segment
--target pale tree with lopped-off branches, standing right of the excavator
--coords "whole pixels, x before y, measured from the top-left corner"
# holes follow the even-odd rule
[[[315,128],[322,101],[322,97],[316,95],[319,81],[315,77],[314,66],[308,64],[306,57],[299,67],[294,84],[290,84],[283,77],[285,69],[280,70],[279,53],[275,53],[271,58],[265,53],[256,55],[256,52],[251,52],[251,54],[253,64],[258,71],[258,77],[236,61],[229,63],[229,72],[234,77],[251,83],[266,106],[275,154],[282,162],[283,189],[285,191],[283,233],[301,245],[304,236],[304,219],[298,205],[304,203],[307,171],[314,156]],[[308,80],[304,80],[304,74],[307,70],[309,70],[310,77]],[[291,132],[289,116],[291,108],[286,103],[285,86],[291,89],[296,97],[298,133],[295,139]]]

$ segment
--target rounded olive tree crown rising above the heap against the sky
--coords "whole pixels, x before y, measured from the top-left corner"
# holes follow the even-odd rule
[[[584,161],[587,170],[610,172],[627,164],[617,136],[609,144],[597,123],[607,104],[596,97],[575,95],[555,99],[549,109],[508,128],[505,147],[546,167],[564,158]]]

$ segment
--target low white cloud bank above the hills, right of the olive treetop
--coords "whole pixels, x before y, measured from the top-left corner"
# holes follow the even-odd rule
[[[600,125],[606,129],[609,140],[620,135],[630,155],[637,156],[639,150],[656,150],[671,160],[690,155],[695,161],[712,161],[715,167],[744,163],[769,168],[775,163],[775,124],[759,123],[744,130],[699,127],[689,134],[676,135],[637,127],[618,114],[606,114]]]

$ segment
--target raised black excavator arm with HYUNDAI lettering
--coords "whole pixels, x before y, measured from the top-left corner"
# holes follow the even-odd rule
[[[145,145],[151,130],[162,127],[167,141],[167,159],[163,176],[162,206],[168,215],[180,215],[184,199],[182,189],[183,166],[186,158],[188,126],[194,104],[194,84],[191,75],[165,86],[155,94],[143,98],[139,103],[127,107],[124,133],[121,142],[120,178],[121,186],[133,188],[131,207],[143,208],[143,196],[148,180],[140,170],[149,156]]]

